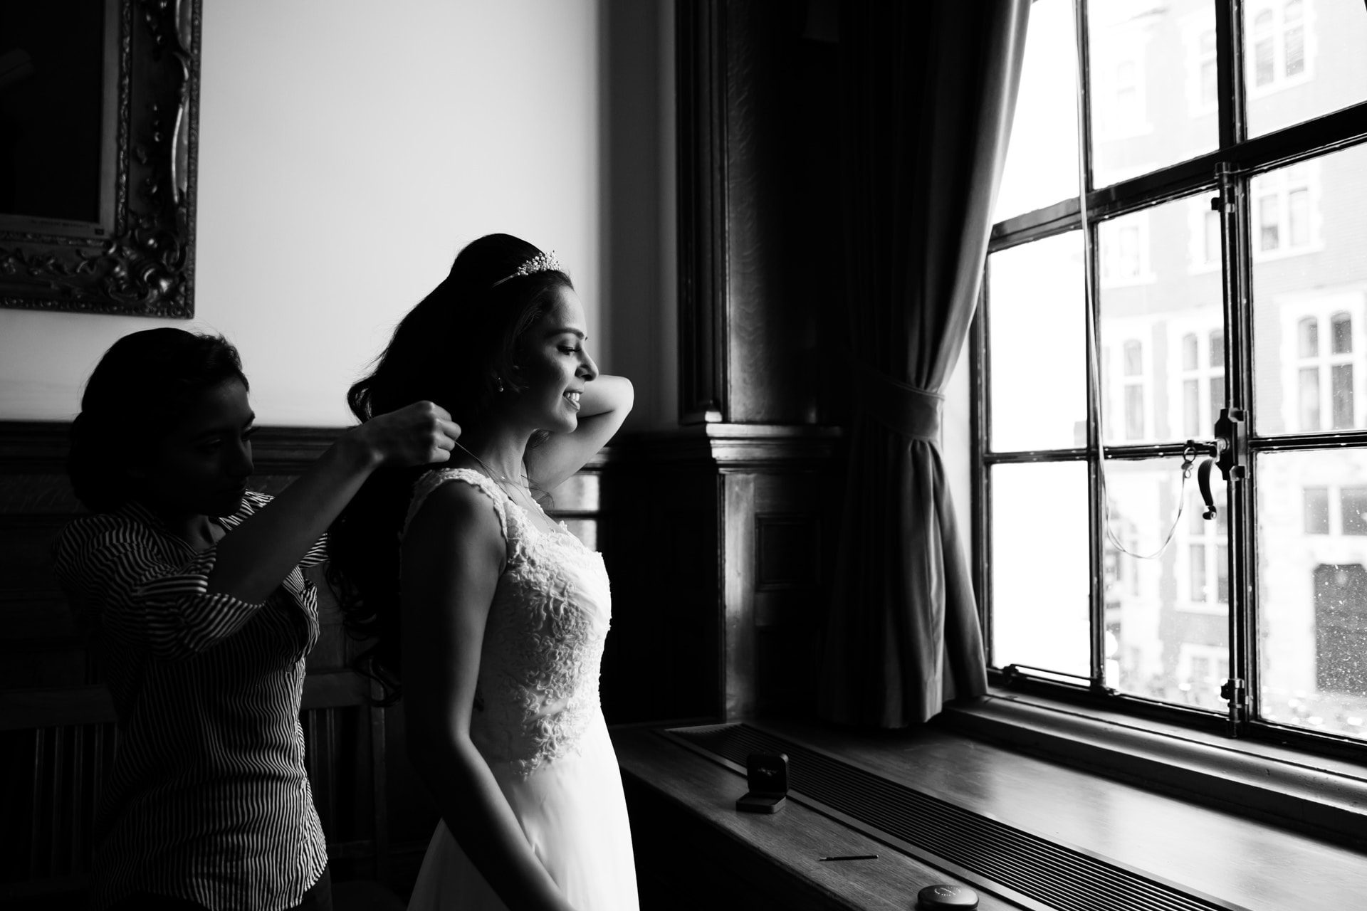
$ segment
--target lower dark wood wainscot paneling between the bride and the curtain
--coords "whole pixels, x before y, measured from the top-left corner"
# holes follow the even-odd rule
[[[614,443],[610,721],[812,705],[837,443],[824,428],[716,423]]]

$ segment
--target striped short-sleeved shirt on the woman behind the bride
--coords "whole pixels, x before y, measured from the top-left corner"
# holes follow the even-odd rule
[[[247,493],[226,530],[271,497]],[[327,866],[303,765],[303,660],[317,591],[295,567],[262,604],[208,591],[194,552],[141,504],[77,519],[53,557],[103,638],[119,748],[94,824],[93,892],[213,910],[298,904]],[[319,541],[301,561],[325,560]]]

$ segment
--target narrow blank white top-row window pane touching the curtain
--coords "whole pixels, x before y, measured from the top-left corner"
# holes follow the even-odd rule
[[[1070,0],[1036,0],[992,221],[1077,195],[1077,33]]]

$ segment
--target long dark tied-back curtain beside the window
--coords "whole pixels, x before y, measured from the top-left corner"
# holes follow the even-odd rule
[[[841,4],[854,417],[822,717],[898,728],[987,690],[939,448],[973,316],[1031,0]]]

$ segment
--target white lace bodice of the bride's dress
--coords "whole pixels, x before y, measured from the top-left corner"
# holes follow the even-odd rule
[[[537,527],[493,481],[473,468],[440,468],[413,490],[409,519],[450,481],[489,497],[507,561],[499,576],[480,654],[470,739],[491,766],[529,776],[577,751],[599,710],[599,664],[611,617],[603,556],[563,524]]]

